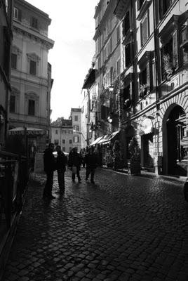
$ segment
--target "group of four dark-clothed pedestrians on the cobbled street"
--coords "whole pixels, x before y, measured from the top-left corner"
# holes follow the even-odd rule
[[[65,171],[68,165],[72,171],[72,181],[75,182],[77,176],[79,183],[81,182],[80,170],[81,165],[86,166],[86,181],[90,176],[90,182],[94,182],[95,168],[98,166],[98,157],[93,151],[93,148],[87,148],[83,150],[84,153],[78,152],[78,148],[73,148],[69,152],[69,159],[64,152],[62,152],[60,145],[57,145],[55,150],[57,151],[57,158],[53,155],[54,144],[50,143],[48,148],[43,154],[44,171],[46,172],[46,185],[43,189],[43,199],[53,200],[55,196],[52,195],[53,188],[53,173],[55,170],[58,172],[58,185],[60,188],[60,194],[65,192]]]

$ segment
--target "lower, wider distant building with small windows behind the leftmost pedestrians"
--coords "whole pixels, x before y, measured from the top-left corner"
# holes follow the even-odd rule
[[[72,121],[62,119],[62,124],[51,125],[51,143],[60,145],[63,152],[69,153],[73,148]]]

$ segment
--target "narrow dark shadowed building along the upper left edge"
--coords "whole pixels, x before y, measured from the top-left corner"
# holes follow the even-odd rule
[[[13,1],[0,1],[0,149],[5,145],[8,124],[8,96],[11,93],[10,58]]]

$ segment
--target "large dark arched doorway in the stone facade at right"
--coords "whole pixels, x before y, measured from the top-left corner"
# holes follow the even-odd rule
[[[186,115],[180,105],[168,108],[163,119],[164,174],[187,176]]]

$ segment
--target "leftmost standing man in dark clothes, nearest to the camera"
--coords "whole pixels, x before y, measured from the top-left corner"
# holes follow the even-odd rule
[[[43,189],[43,198],[48,198],[50,200],[55,199],[55,196],[52,195],[53,171],[56,169],[53,150],[54,144],[50,143],[43,154],[43,167],[44,171],[46,172],[46,185]]]

